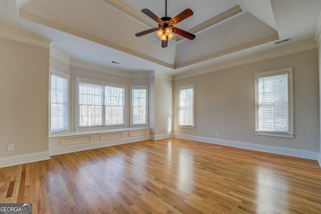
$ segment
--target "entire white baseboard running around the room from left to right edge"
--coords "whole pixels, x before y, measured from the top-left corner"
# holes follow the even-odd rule
[[[237,148],[243,148],[243,149],[249,149],[249,150],[255,150],[255,151],[263,151],[268,153],[275,153],[275,154],[282,154],[282,155],[317,160],[321,167],[321,153],[318,153],[318,152],[283,148],[283,147],[277,147],[277,146],[259,145],[259,144],[253,144],[253,143],[231,141],[231,140],[222,140],[222,139],[209,138],[209,137],[200,137],[200,136],[186,135],[186,134],[179,134],[179,133],[174,133],[174,134],[169,133],[169,134],[151,135],[151,136],[149,135],[137,136],[137,137],[130,137],[130,138],[124,138],[119,140],[117,139],[106,140],[106,141],[100,141],[96,143],[91,142],[91,143],[73,144],[73,145],[54,147],[54,148],[50,148],[49,149],[50,151],[0,158],[0,167],[7,167],[7,166],[30,163],[35,161],[48,160],[50,159],[51,155],[65,154],[70,152],[101,148],[106,146],[132,143],[132,142],[141,141],[141,140],[149,140],[149,139],[159,140],[164,138],[170,138],[173,136],[178,138],[183,138],[183,139],[197,140],[197,141],[206,142],[206,143],[213,143],[218,145],[225,145],[225,146],[231,146],[231,147],[237,147]]]

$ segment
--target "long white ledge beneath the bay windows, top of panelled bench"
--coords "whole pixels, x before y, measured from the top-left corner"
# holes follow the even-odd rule
[[[110,132],[121,132],[121,131],[132,131],[132,130],[140,130],[140,129],[148,129],[149,127],[126,127],[126,128],[118,128],[118,129],[95,129],[95,130],[82,130],[80,131],[70,131],[70,132],[63,132],[63,133],[55,133],[50,134],[49,138],[51,137],[68,137],[68,136],[77,136],[77,135],[84,135],[84,134],[99,134],[99,133],[110,133]]]

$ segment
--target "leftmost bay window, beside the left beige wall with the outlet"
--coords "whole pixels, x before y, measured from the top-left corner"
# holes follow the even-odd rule
[[[69,129],[69,76],[50,69],[50,133]]]

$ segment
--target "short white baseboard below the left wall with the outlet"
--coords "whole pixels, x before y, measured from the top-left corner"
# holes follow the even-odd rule
[[[14,166],[48,159],[50,159],[49,151],[2,157],[0,158],[0,167]]]

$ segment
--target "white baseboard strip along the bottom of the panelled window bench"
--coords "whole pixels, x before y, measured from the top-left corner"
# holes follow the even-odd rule
[[[113,140],[103,140],[99,142],[71,144],[71,145],[64,145],[59,147],[52,147],[52,148],[49,148],[49,151],[50,151],[50,155],[66,154],[71,152],[101,148],[106,146],[114,146],[114,145],[132,143],[136,141],[149,140],[149,139],[150,139],[149,135],[144,135],[144,136],[136,136],[136,137],[129,137],[129,138],[113,139]]]

